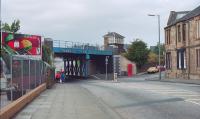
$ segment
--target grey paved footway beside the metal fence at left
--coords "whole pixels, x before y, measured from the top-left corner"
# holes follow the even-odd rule
[[[55,84],[40,94],[14,119],[120,119],[107,105],[80,86],[69,82]]]

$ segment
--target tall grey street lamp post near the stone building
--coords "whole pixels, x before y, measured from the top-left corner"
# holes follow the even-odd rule
[[[158,65],[159,65],[159,80],[161,80],[161,70],[160,70],[160,15],[148,14],[148,16],[157,16],[158,18]]]

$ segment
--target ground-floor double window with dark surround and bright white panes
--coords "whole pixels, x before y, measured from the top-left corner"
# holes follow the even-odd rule
[[[186,69],[186,51],[185,49],[177,50],[177,68]]]

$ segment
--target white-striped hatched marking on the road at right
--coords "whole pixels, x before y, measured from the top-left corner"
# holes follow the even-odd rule
[[[126,87],[128,89],[138,89],[146,92],[151,92],[160,95],[166,95],[170,97],[182,98],[185,102],[193,103],[200,106],[200,92],[193,90],[182,89],[180,87],[171,85],[157,85],[148,83],[119,83],[115,84],[120,87]],[[192,85],[190,85],[192,86]],[[196,85],[195,85],[196,86]],[[199,86],[200,89],[200,86]]]

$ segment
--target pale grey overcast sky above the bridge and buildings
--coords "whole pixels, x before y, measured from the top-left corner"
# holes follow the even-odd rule
[[[1,0],[2,21],[21,21],[21,33],[54,40],[103,44],[103,35],[117,32],[130,43],[158,41],[156,17],[161,15],[161,42],[170,11],[192,10],[200,0]]]

